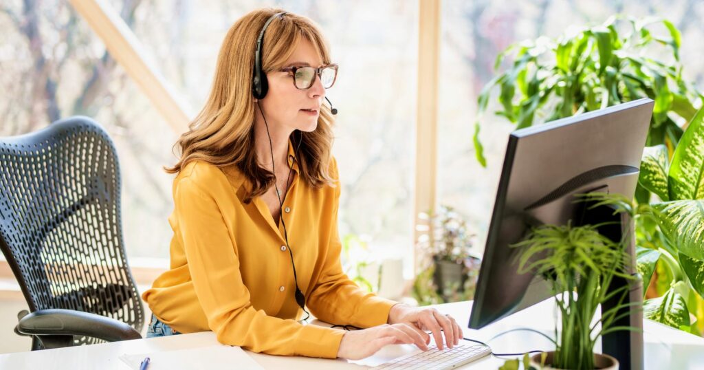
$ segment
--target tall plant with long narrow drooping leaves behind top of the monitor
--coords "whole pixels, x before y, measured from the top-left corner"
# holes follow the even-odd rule
[[[626,101],[655,101],[646,146],[674,147],[701,104],[702,94],[682,78],[681,35],[668,20],[615,16],[602,25],[514,44],[496,57],[513,63],[484,86],[474,128],[477,160],[486,166],[479,121],[499,90],[496,114],[517,129]],[[636,193],[646,199],[643,190]]]

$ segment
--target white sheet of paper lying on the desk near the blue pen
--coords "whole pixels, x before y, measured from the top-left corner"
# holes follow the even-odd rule
[[[120,359],[131,369],[139,370],[144,357],[149,357],[149,370],[161,369],[263,369],[240,347],[229,345],[210,345],[208,347],[189,348],[166,352],[142,354],[122,354]]]

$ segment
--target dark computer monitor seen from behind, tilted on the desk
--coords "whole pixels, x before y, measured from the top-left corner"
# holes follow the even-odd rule
[[[510,245],[541,223],[579,225],[610,216],[585,214],[574,195],[601,191],[633,197],[652,112],[653,100],[639,99],[510,134],[470,328],[553,296],[540,276],[517,273],[520,251]],[[603,343],[606,347],[607,340]]]

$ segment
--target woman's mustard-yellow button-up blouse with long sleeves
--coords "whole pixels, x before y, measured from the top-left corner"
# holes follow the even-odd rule
[[[386,323],[396,302],[360,290],[343,273],[337,232],[340,185],[313,189],[298,179],[289,142],[293,183],[281,216],[294,254],[298,286],[313,316],[366,328]],[[344,331],[298,323],[303,314],[284,228],[256,197],[244,204],[249,180],[235,168],[189,163],[173,183],[175,208],[171,267],[142,299],[181,333],[212,330],[220,343],[253,352],[337,357]]]

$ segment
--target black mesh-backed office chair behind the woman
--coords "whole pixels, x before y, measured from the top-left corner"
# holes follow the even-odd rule
[[[92,119],[0,137],[0,249],[31,312],[15,333],[31,335],[32,350],[142,338],[118,156]]]

